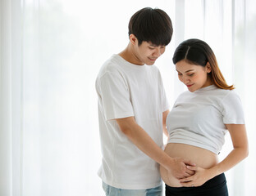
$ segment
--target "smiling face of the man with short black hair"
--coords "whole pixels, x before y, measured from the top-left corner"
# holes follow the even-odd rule
[[[165,46],[156,46],[151,42],[142,42],[138,46],[135,45],[135,58],[138,60],[138,65],[153,65],[159,56],[165,51]]]

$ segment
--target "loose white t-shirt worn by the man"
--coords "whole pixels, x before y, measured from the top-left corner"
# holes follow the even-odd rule
[[[135,121],[156,144],[162,144],[162,112],[169,109],[159,70],[133,65],[113,55],[96,79],[102,166],[98,176],[120,189],[149,189],[161,185],[158,163],[139,150],[120,130],[116,118]]]

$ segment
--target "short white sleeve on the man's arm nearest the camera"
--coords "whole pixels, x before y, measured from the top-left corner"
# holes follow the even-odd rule
[[[118,73],[105,73],[98,79],[103,113],[106,120],[134,116],[126,81]]]

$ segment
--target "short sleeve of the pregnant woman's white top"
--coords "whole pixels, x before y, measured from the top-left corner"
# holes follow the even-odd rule
[[[222,100],[222,107],[224,124],[245,124],[244,109],[235,91],[230,91]]]

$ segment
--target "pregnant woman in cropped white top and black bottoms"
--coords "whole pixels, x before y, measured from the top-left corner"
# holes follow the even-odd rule
[[[181,42],[173,56],[178,77],[189,91],[176,100],[167,116],[168,142],[165,152],[171,157],[195,163],[187,166],[194,175],[176,179],[161,167],[166,195],[228,195],[224,171],[248,156],[245,119],[240,98],[228,86],[206,42],[189,39]],[[230,132],[234,149],[218,162],[217,154]]]

